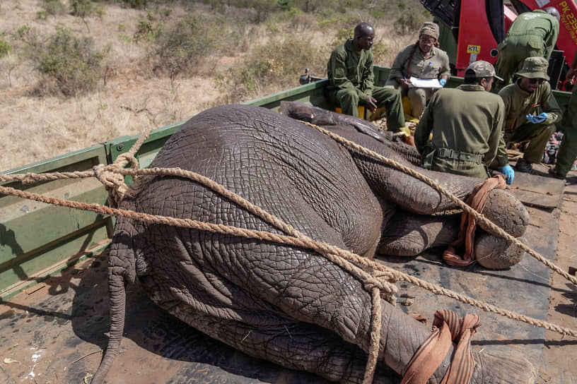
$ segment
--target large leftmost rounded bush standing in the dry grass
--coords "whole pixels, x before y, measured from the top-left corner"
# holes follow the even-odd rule
[[[95,50],[91,38],[76,37],[69,29],[57,28],[47,42],[42,42],[28,25],[16,35],[43,76],[41,90],[74,96],[95,88],[106,50]]]

